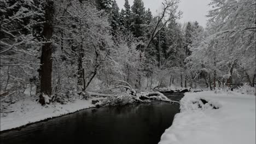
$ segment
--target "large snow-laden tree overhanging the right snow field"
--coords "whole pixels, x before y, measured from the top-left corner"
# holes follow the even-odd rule
[[[211,3],[207,33],[193,40],[190,63],[200,62],[208,74],[208,86],[213,84],[230,85],[234,82],[237,70],[255,73],[255,1],[221,1]],[[196,53],[200,53],[196,55]],[[197,60],[196,60],[197,59]],[[250,65],[250,66],[249,66]],[[253,65],[253,67],[252,67]],[[251,67],[251,68],[249,68]],[[249,68],[249,69],[248,69]],[[248,74],[248,73],[247,73]],[[212,76],[213,75],[213,76]],[[248,74],[249,75],[249,74]],[[248,77],[248,76],[247,76]]]

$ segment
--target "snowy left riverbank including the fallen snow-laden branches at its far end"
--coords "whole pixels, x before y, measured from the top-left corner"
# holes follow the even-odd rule
[[[37,102],[37,98],[31,97],[27,92],[23,97],[20,97],[19,100],[9,98],[8,103],[1,103],[0,131],[18,128],[26,124],[59,117],[95,106],[102,107],[108,105],[150,103],[152,102],[151,100],[178,103],[177,101],[168,99],[164,94],[159,92],[141,92],[137,93],[136,96],[130,94],[110,95],[93,92],[90,92],[89,95],[94,95],[94,97],[88,97],[89,100],[73,97],[72,102],[69,101],[66,104],[53,103],[45,106],[41,106]]]

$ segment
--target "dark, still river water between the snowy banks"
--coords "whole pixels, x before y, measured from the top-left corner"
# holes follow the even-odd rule
[[[165,94],[179,100],[183,94]],[[1,143],[158,143],[178,104],[153,102],[86,109],[0,134]]]

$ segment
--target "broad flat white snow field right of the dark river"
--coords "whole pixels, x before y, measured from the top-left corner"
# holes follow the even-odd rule
[[[176,114],[159,142],[167,143],[255,144],[255,95],[185,93],[181,113]]]

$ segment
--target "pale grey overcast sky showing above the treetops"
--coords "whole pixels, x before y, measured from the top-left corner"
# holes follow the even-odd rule
[[[125,0],[116,0],[119,8],[124,8]],[[199,25],[205,27],[207,17],[207,11],[210,10],[208,4],[211,0],[180,0],[179,9],[183,11],[182,19],[179,22],[188,22],[188,21],[197,21]],[[162,0],[143,0],[144,7],[150,8],[153,15],[159,13],[161,8]],[[132,6],[133,0],[129,0],[130,5]]]

